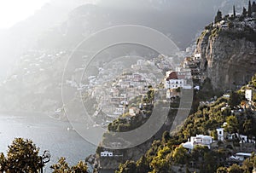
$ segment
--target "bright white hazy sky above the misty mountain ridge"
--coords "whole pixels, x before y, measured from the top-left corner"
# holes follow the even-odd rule
[[[3,0],[0,2],[0,29],[13,26],[34,14],[49,0]]]

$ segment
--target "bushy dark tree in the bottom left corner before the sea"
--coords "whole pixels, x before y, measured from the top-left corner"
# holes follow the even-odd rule
[[[10,172],[38,172],[43,166],[38,152],[39,148],[31,140],[15,138],[8,149],[7,169]]]

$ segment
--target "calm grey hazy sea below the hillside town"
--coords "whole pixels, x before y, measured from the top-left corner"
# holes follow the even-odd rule
[[[40,154],[49,150],[51,159],[44,172],[51,172],[49,166],[61,156],[73,165],[96,151],[68,122],[41,113],[0,113],[0,153],[6,153],[15,137],[31,139],[40,147]]]

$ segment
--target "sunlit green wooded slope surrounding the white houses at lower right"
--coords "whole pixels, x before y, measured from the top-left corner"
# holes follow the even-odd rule
[[[256,75],[249,84],[253,86],[255,83]],[[222,127],[224,122],[225,131],[244,134],[252,139],[256,136],[256,127],[253,125],[256,124],[256,119],[253,118],[253,112],[250,109],[239,112],[236,108],[244,104],[244,93],[233,91],[230,98],[219,97],[212,104],[199,106],[195,113],[189,115],[177,133],[170,136],[169,132],[164,132],[162,139],[154,141],[141,159],[137,162],[128,160],[125,164],[120,164],[116,173],[166,173],[173,172],[175,166],[179,167],[181,172],[189,172],[191,169],[209,173],[252,172],[256,164],[254,154],[250,159],[246,159],[242,166],[234,164],[230,168],[225,168],[225,160],[232,153],[232,146],[223,149],[224,143],[221,141],[218,142],[218,147],[212,147],[211,150],[208,147],[197,146],[189,152],[180,145],[190,136],[197,134],[212,136],[217,140],[216,128]],[[234,146],[239,145],[238,138],[239,136],[236,136],[231,141]]]

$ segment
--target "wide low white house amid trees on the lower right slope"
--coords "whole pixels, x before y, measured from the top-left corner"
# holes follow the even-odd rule
[[[207,146],[210,149],[212,143],[212,136],[196,135],[191,136],[190,140],[183,143],[183,147],[192,150],[195,146]]]

